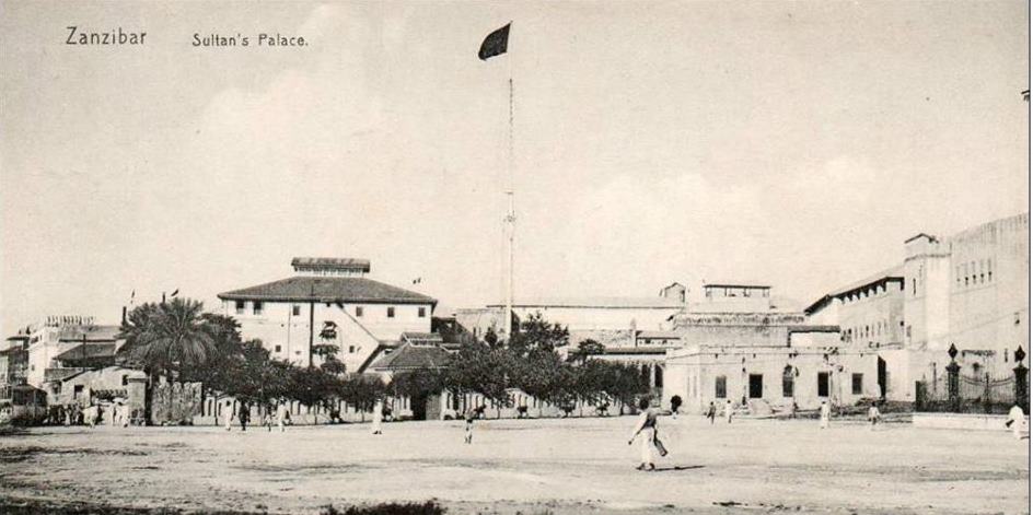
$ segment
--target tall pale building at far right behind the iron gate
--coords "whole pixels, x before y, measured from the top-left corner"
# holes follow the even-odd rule
[[[892,400],[914,401],[916,382],[942,381],[951,344],[964,375],[1008,377],[1030,338],[1029,234],[1029,213],[945,238],[919,233],[904,242],[902,265],[822,296],[809,323],[875,349]]]

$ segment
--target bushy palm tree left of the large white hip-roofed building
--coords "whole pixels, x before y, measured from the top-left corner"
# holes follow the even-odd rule
[[[222,328],[212,324],[202,309],[204,304],[189,299],[137,307],[123,323],[126,343],[119,353],[151,374],[205,365],[219,350]]]

